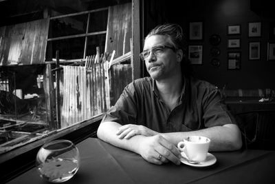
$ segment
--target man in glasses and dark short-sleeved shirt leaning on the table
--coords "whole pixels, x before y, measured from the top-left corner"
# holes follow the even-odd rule
[[[210,151],[241,148],[239,127],[219,90],[194,79],[184,68],[182,40],[176,24],[151,30],[140,54],[151,77],[126,86],[102,119],[99,139],[159,165],[168,161],[179,165],[176,145],[190,135],[210,138]]]

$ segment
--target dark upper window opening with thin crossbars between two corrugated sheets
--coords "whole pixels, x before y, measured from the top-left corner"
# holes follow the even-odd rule
[[[46,61],[83,59],[96,54],[96,47],[104,52],[107,33],[108,9],[61,15],[50,19]]]

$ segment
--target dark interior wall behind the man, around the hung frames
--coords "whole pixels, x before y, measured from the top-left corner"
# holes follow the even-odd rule
[[[272,12],[265,10],[253,12],[250,9],[250,0],[185,1],[183,6],[165,2],[165,16],[168,17],[168,22],[179,23],[184,28],[186,36],[188,36],[190,21],[203,22],[203,40],[188,41],[191,45],[203,45],[203,64],[192,65],[195,76],[210,81],[219,88],[225,84],[228,89],[275,88],[275,61],[267,61],[267,42],[269,41],[270,23],[273,21]],[[146,15],[151,17],[150,12],[146,12]],[[248,23],[257,21],[262,23],[262,35],[250,38],[248,37]],[[241,34],[228,35],[228,25],[241,25]],[[210,54],[213,46],[209,42],[212,34],[219,34],[221,37],[221,43],[217,45],[221,54],[216,57],[220,60],[219,68],[210,63],[213,59]],[[228,48],[228,39],[234,38],[241,39],[241,48]],[[261,42],[260,60],[249,60],[250,41]],[[241,52],[241,69],[228,70],[228,52],[235,51]]]

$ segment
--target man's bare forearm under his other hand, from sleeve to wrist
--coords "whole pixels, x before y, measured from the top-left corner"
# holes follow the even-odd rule
[[[121,126],[122,125],[120,125],[119,123],[113,121],[100,123],[97,132],[98,138],[102,139],[102,141],[110,143],[111,145],[115,145],[116,147],[120,147],[125,150],[130,150],[132,152],[140,154],[140,141],[144,138],[144,136],[137,135],[133,136],[132,139],[119,139],[119,137],[115,133],[118,132],[118,128]]]

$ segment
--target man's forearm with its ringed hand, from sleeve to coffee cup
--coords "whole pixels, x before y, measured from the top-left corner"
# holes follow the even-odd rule
[[[146,135],[148,134],[146,129],[141,128],[141,132],[146,132],[145,135],[135,134],[131,136],[130,139],[124,139],[116,134],[121,126],[119,123],[113,121],[100,123],[100,127],[98,127],[98,138],[116,147],[140,154],[143,159],[150,163],[160,165],[171,161],[177,165],[180,164],[179,158],[181,154],[179,150],[177,150],[177,147],[158,133],[155,134],[155,132],[153,132],[154,135],[150,134],[150,136],[148,136]],[[135,127],[136,126],[131,127],[131,130]],[[151,131],[149,132],[152,133]]]

